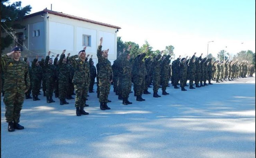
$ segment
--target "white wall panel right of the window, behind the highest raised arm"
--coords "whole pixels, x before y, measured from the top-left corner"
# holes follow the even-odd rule
[[[109,49],[108,54],[115,53],[115,34],[99,31],[99,36],[102,37],[102,50]],[[100,39],[97,39],[100,41]]]

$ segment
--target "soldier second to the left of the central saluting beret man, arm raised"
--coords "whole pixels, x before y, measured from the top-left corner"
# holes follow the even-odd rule
[[[52,94],[55,87],[56,79],[57,79],[57,70],[54,65],[52,65],[52,58],[50,58],[51,51],[48,51],[48,55],[44,61],[45,69],[46,69],[46,100],[47,103],[54,103],[52,100]]]

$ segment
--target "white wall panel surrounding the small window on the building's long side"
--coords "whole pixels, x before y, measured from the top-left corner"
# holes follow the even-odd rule
[[[76,28],[76,51],[80,51],[84,47],[82,45],[83,34],[91,36],[91,47],[87,47],[86,52],[97,53],[96,30],[81,28],[81,27]]]

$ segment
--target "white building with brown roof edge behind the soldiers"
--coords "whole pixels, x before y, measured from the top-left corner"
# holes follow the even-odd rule
[[[37,54],[45,57],[47,52],[51,51],[51,55],[56,56],[58,53],[61,54],[63,49],[66,49],[65,54],[76,55],[87,46],[86,54],[93,55],[96,65],[97,47],[101,37],[103,37],[102,50],[109,48],[109,61],[113,64],[116,59],[117,32],[121,29],[118,26],[47,9],[25,16],[21,24],[26,28],[15,30],[18,41],[15,45],[22,48],[22,56],[28,54],[30,61]],[[4,53],[10,49],[10,47],[6,48]]]

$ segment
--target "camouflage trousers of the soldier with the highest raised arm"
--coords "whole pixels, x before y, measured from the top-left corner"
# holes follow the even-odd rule
[[[99,78],[99,89],[100,89],[100,103],[108,103],[108,95],[110,91],[110,81],[109,79]]]

